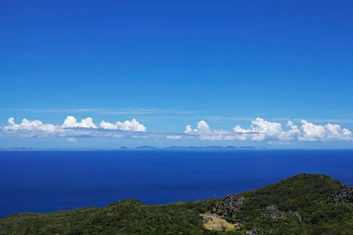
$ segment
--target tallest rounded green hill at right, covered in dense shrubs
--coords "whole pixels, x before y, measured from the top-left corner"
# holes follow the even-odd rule
[[[342,187],[341,182],[327,175],[299,174],[241,193],[244,203],[232,216],[245,221],[243,231],[255,227],[264,229],[267,234],[303,234],[293,215],[298,212],[308,234],[353,234],[353,204],[344,203],[342,199],[334,205],[334,196]],[[270,205],[285,219],[268,215],[265,209]]]

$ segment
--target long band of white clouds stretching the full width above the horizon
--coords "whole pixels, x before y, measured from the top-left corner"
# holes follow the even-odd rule
[[[8,119],[8,125],[0,127],[1,137],[67,137],[77,144],[74,138],[79,137],[112,137],[112,138],[161,138],[172,140],[218,140],[218,141],[267,141],[268,144],[299,142],[346,142],[353,141],[353,134],[340,125],[328,123],[316,125],[301,120],[300,128],[288,121],[283,130],[281,123],[269,122],[257,117],[251,121],[249,128],[240,125],[233,131],[213,130],[201,120],[195,129],[187,125],[184,133],[147,132],[146,127],[135,118],[131,121],[110,123],[102,120],[98,127],[92,118],[87,117],[77,122],[73,116],[67,116],[62,125],[43,124],[40,120],[22,119],[16,124],[14,118]]]

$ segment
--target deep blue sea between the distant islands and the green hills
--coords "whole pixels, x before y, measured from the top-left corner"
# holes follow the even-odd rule
[[[0,150],[0,218],[225,197],[299,173],[353,185],[353,149]]]

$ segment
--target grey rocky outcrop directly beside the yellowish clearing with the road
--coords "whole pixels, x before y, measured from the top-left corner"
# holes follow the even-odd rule
[[[233,215],[234,211],[239,209],[239,205],[243,203],[243,197],[238,194],[230,193],[217,203],[214,209],[217,214],[221,215]]]

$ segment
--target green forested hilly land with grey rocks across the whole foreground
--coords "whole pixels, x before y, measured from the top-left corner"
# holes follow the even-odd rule
[[[146,205],[126,199],[104,208],[22,213],[0,219],[2,234],[307,234],[353,235],[353,188],[326,175],[299,174],[225,198]],[[208,230],[200,213],[217,213],[232,230]],[[225,232],[224,232],[225,231]]]

